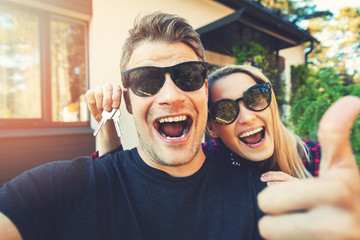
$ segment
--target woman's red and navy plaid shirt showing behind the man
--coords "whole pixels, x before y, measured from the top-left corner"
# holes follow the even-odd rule
[[[321,158],[321,148],[318,143],[311,142],[309,140],[303,140],[308,151],[309,151],[309,158],[310,161],[306,161],[306,159],[303,159],[303,163],[306,167],[306,169],[313,175],[314,177],[317,177],[319,175],[319,167],[320,167],[320,158]],[[217,142],[215,140],[210,140],[208,142],[205,142],[202,144],[202,148],[204,150],[205,155],[223,155],[226,160],[229,160],[229,151],[224,151],[225,145],[221,142]],[[227,148],[226,148],[227,149]],[[102,156],[105,156],[110,153],[114,153],[117,151],[122,151],[123,147],[120,145],[115,150],[106,153]],[[225,154],[223,153],[225,152]],[[96,151],[91,155],[91,159],[95,160],[99,158],[99,152]]]

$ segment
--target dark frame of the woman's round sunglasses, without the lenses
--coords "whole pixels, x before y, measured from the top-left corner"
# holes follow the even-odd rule
[[[246,96],[250,93],[250,91],[254,88],[257,88],[257,87],[265,87],[266,89],[269,90],[269,102],[268,104],[266,105],[266,107],[260,109],[260,110],[256,110],[256,109],[252,109],[250,106],[248,106],[248,104],[244,101],[244,98],[246,98]],[[266,108],[268,108],[270,106],[270,103],[271,103],[271,95],[272,95],[272,87],[271,87],[271,84],[269,82],[263,82],[263,83],[258,83],[254,86],[251,86],[250,88],[248,88],[245,92],[244,92],[244,95],[242,97],[239,97],[238,99],[236,100],[232,100],[232,99],[228,99],[228,98],[224,98],[224,99],[220,99],[216,102],[214,102],[213,104],[211,104],[209,106],[209,117],[214,120],[215,122],[217,122],[218,124],[220,125],[229,125],[231,123],[233,123],[237,117],[239,116],[239,113],[240,113],[240,107],[239,107],[239,102],[240,101],[243,101],[245,107],[251,111],[254,111],[254,112],[261,112],[261,111],[264,111]],[[231,102],[235,108],[236,108],[236,115],[234,117],[234,119],[231,121],[231,122],[228,122],[228,123],[221,123],[219,121],[216,120],[216,117],[213,116],[212,114],[212,110],[214,109],[214,107],[219,104],[220,102],[224,102],[224,101],[227,101],[227,102]]]

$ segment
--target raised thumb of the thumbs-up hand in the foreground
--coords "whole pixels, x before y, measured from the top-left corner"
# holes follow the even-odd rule
[[[358,171],[351,149],[350,132],[359,114],[360,98],[346,96],[337,100],[323,115],[318,130],[320,177],[341,170]]]

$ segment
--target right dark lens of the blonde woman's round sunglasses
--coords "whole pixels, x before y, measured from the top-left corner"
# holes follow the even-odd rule
[[[254,111],[262,111],[270,104],[270,88],[265,84],[259,84],[246,91],[243,98],[245,105]]]

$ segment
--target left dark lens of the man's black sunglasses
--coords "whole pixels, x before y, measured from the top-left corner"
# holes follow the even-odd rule
[[[142,68],[128,75],[131,91],[136,96],[147,97],[156,94],[163,85],[162,73],[158,68]]]

